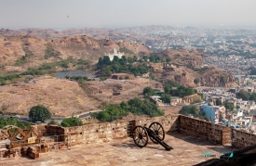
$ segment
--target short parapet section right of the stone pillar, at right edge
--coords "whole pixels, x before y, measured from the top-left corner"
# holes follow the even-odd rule
[[[236,148],[256,145],[256,134],[249,134],[236,129],[232,130],[232,146]]]

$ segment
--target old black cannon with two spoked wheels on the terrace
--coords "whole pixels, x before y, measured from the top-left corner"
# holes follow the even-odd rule
[[[166,150],[172,149],[165,142],[165,130],[159,122],[152,122],[149,128],[143,126],[136,126],[133,130],[133,141],[138,147],[145,147],[148,143],[148,137],[155,144],[160,144]]]

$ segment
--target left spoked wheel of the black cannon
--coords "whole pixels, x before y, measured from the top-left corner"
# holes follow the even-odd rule
[[[138,147],[145,147],[148,143],[148,134],[144,127],[136,126],[133,130],[133,141]]]

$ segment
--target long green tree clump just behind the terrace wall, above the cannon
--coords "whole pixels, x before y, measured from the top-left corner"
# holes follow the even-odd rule
[[[104,107],[103,111],[93,113],[92,116],[100,121],[115,121],[116,119],[128,115],[128,112],[134,115],[147,115],[149,117],[164,115],[164,111],[158,109],[149,99],[141,100],[135,97],[130,99],[128,103],[123,101],[120,105],[108,104]]]

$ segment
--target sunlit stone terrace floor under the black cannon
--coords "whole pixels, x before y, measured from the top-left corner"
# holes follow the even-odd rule
[[[40,154],[39,159],[27,158],[2,159],[0,165],[194,165],[213,157],[201,156],[212,152],[217,157],[220,153],[230,152],[228,147],[217,146],[209,141],[200,140],[184,134],[166,135],[166,143],[173,147],[166,151],[164,147],[151,141],[147,147],[136,147],[131,138],[115,139],[109,143],[85,144]]]

